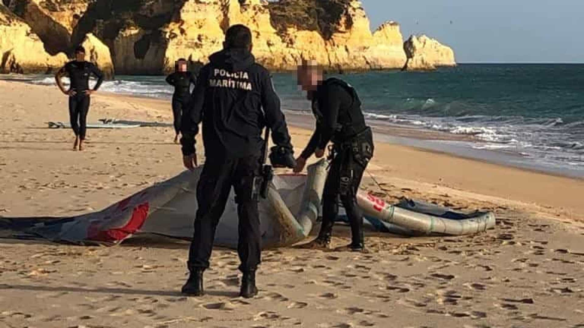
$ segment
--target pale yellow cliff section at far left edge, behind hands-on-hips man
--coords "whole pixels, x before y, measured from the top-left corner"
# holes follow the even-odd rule
[[[67,61],[65,54],[50,55],[30,27],[0,3],[0,72],[49,73]]]

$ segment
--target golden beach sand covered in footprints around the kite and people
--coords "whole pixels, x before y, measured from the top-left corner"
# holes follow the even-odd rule
[[[0,95],[2,216],[100,210],[183,170],[172,128],[88,130],[74,152],[70,130],[46,128],[68,121],[57,88],[0,81]],[[168,101],[98,93],[88,121],[171,115]],[[310,131],[290,131],[300,153]],[[0,327],[584,326],[584,180],[377,142],[362,187],[493,210],[498,225],[460,237],[370,233],[369,254],[267,250],[254,299],[237,297],[234,250],[215,249],[208,295],[186,298],[186,242],[0,239]],[[335,246],[348,242],[335,233]]]

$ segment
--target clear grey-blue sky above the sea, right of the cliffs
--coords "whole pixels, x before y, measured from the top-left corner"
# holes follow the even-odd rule
[[[584,62],[584,0],[362,2],[371,29],[395,20],[404,37],[453,47],[458,62]]]

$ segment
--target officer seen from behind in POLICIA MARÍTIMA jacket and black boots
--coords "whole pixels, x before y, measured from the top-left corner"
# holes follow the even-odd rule
[[[251,54],[248,27],[235,25],[225,33],[224,49],[211,55],[201,68],[192,99],[183,113],[180,139],[187,169],[197,165],[194,137],[203,125],[206,162],[197,186],[197,210],[187,266],[187,295],[203,295],[203,271],[209,267],[215,229],[231,187],[238,204],[238,253],[242,271],[241,296],[258,293],[255,271],[260,263],[260,224],[257,181],[260,176],[262,130],[267,125],[276,145],[279,165],[294,168],[296,162],[280,100],[269,72]],[[272,159],[272,164],[274,160]]]

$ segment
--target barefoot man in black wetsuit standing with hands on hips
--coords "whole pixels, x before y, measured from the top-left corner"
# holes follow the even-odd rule
[[[93,89],[90,89],[89,77],[92,74],[98,78],[98,82],[95,83]],[[65,90],[63,86],[61,81],[63,76],[69,76],[71,80],[69,90]],[[73,149],[77,150],[79,147],[79,150],[82,151],[87,129],[90,96],[102,85],[103,73],[93,63],[85,61],[85,48],[79,46],[75,48],[75,60],[59,69],[55,80],[61,92],[69,96],[69,118],[71,119],[71,128],[75,132]]]

